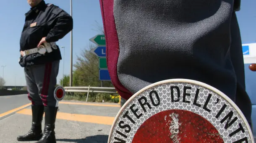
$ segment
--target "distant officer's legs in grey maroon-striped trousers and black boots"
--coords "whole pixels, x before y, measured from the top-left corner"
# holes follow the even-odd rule
[[[55,120],[58,107],[54,98],[55,85],[60,61],[25,68],[29,100],[32,103],[32,127],[18,140],[39,140],[37,143],[56,143]],[[42,134],[42,116],[45,113],[44,133]]]

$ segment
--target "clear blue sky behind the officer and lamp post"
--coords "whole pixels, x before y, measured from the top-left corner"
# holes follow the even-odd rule
[[[10,4],[8,0],[2,0],[0,9],[0,43],[1,56],[0,65],[4,68],[6,85],[26,85],[23,68],[18,64],[19,40],[24,25],[24,14],[29,10],[26,0],[15,0]],[[53,3],[70,13],[70,0],[45,0],[46,3]],[[241,10],[237,13],[238,22],[242,35],[243,44],[256,42],[256,1],[242,0]],[[83,48],[91,43],[89,39],[98,34],[95,27],[97,21],[102,26],[102,17],[99,7],[99,0],[73,0],[73,63],[76,62],[76,55],[80,55]],[[70,34],[57,42],[59,46],[65,46],[65,57],[63,49],[62,56],[65,58],[64,74],[70,73]],[[74,68],[73,68],[74,69]],[[60,72],[57,81],[62,78],[63,60],[60,63]],[[0,76],[3,77],[3,68],[0,67]],[[16,77],[16,82],[15,82]]]

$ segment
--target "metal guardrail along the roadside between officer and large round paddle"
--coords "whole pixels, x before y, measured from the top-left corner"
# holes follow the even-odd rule
[[[76,86],[76,87],[63,87],[65,92],[83,92],[87,93],[86,102],[88,100],[89,93],[117,93],[115,88],[105,87],[90,87],[90,86]]]

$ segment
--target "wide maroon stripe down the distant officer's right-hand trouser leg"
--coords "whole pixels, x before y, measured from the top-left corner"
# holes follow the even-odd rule
[[[48,89],[49,89],[49,84],[50,84],[51,72],[52,72],[52,63],[47,63],[45,65],[44,83],[43,83],[42,92],[40,95],[44,106],[47,106],[47,94],[48,94]]]

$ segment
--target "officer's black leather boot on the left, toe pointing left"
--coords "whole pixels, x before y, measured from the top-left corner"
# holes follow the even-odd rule
[[[26,135],[17,137],[18,141],[39,140],[42,138],[42,119],[44,115],[44,105],[31,105],[32,126]]]

